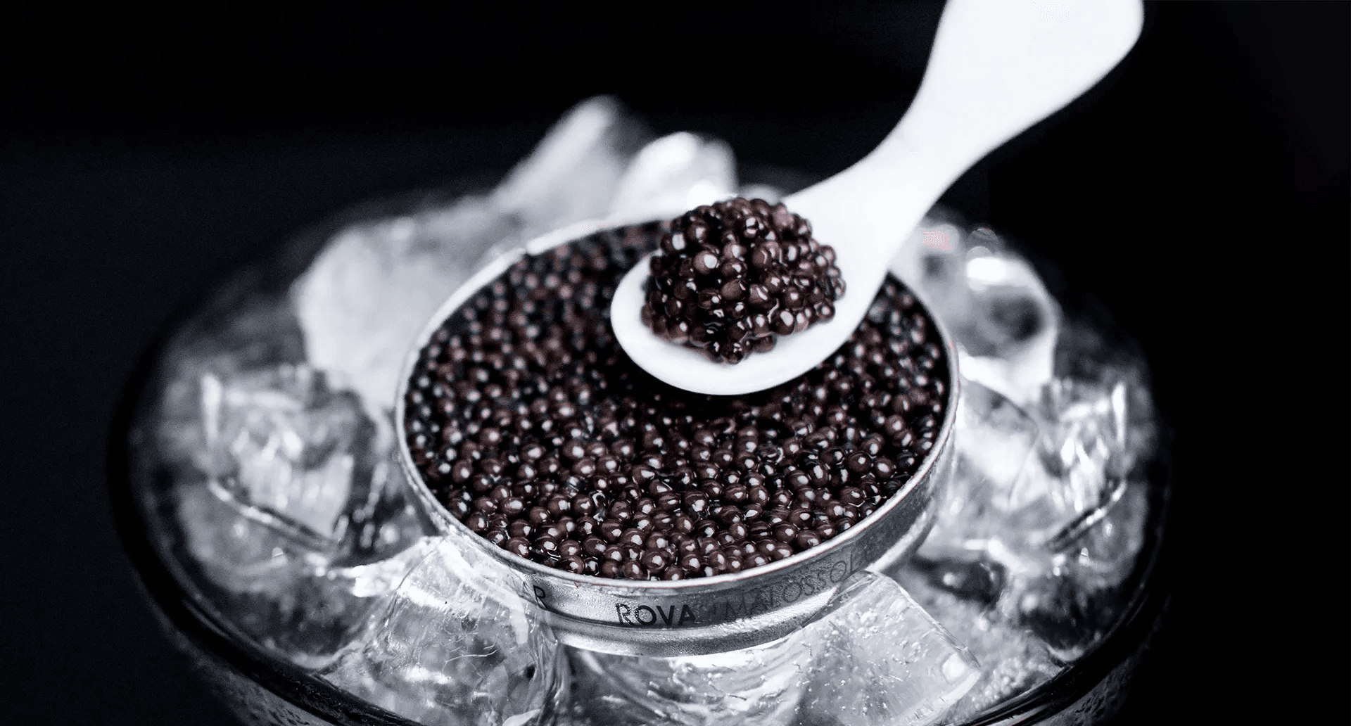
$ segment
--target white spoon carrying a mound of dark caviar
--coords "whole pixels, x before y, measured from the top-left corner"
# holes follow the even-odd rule
[[[971,165],[1093,86],[1140,35],[1140,0],[948,0],[924,81],[905,117],[854,166],[785,198],[835,248],[846,293],[835,317],[782,336],[738,364],[661,340],[639,312],[647,259],[620,281],[615,337],[643,370],[716,395],[758,391],[824,360],[858,328],[888,263]]]

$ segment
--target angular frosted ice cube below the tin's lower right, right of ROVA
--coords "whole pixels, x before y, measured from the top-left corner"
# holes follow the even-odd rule
[[[801,634],[813,657],[800,722],[931,723],[981,675],[967,649],[890,578],[855,575],[832,605]]]

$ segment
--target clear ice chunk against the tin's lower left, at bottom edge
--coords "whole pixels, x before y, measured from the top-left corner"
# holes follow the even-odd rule
[[[524,582],[458,537],[411,548],[365,638],[319,675],[424,726],[549,723],[567,696],[563,650]]]

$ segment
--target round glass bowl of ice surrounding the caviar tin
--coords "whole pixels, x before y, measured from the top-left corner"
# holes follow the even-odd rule
[[[594,184],[567,184],[582,177]],[[846,568],[771,638],[738,640],[731,626],[723,646],[697,652],[570,638],[538,582],[473,528],[446,525],[462,499],[435,498],[408,471],[394,410],[405,355],[476,271],[582,220],[774,201],[809,181],[739,167],[707,136],[651,139],[596,99],[496,185],[365,205],[232,275],[166,328],[115,429],[119,526],[168,637],[251,723],[1112,715],[1169,591],[1167,451],[1147,370],[1109,320],[1051,294],[996,231],[942,209],[892,271],[950,339],[948,479],[924,521],[902,528],[916,533],[907,557]],[[601,452],[576,453],[558,464],[590,459],[585,468]],[[865,463],[875,480],[871,462],[859,475]],[[638,528],[616,534],[627,529]],[[647,549],[644,572],[666,572]],[[762,555],[769,571],[798,551]],[[698,617],[680,602],[627,605],[634,625]]]

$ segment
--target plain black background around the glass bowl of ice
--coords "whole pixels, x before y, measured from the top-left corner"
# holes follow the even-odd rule
[[[1178,576],[1127,723],[1346,717],[1348,7],[1151,4],[948,197],[1152,366]],[[594,93],[831,174],[904,112],[942,5],[0,8],[0,708],[130,725],[228,721],[107,501],[115,403],[176,310],[345,206],[508,167]]]

